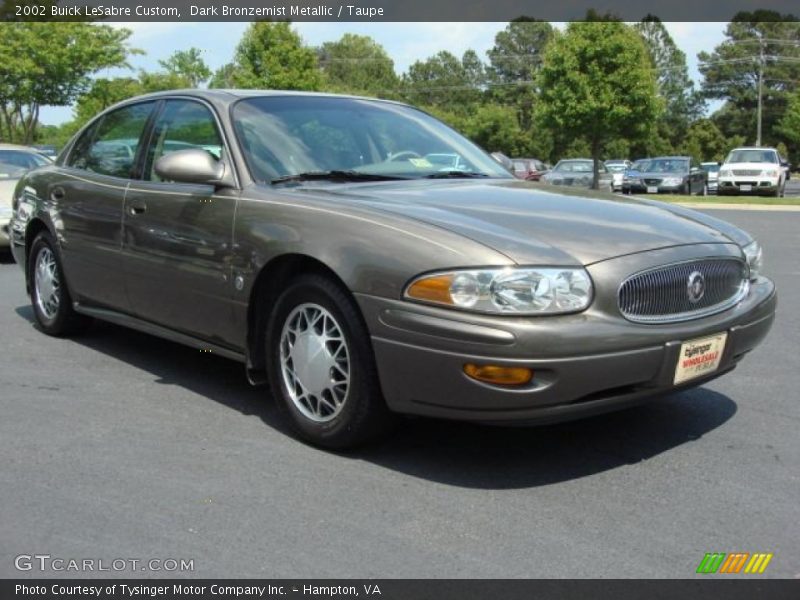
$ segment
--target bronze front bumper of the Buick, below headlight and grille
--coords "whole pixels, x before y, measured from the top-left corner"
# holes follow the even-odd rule
[[[773,283],[761,278],[736,307],[695,321],[641,325],[590,308],[561,317],[487,317],[357,295],[387,404],[395,412],[494,423],[542,423],[616,410],[732,370],[767,335]],[[717,371],[673,384],[681,343],[728,332]],[[464,364],[525,366],[533,381],[501,387]]]

